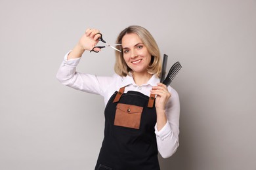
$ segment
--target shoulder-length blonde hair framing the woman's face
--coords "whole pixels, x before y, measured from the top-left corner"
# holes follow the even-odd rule
[[[146,48],[148,49],[148,52],[152,56],[150,65],[148,65],[148,73],[154,74],[160,77],[161,75],[160,50],[158,48],[158,44],[156,44],[155,39],[152,37],[150,32],[144,27],[141,27],[138,25],[131,25],[123,29],[123,31],[119,33],[116,43],[121,44],[123,36],[130,33],[136,33],[140,37],[144,46],[146,46]],[[132,72],[132,70],[125,63],[125,59],[123,58],[123,49],[121,48],[121,46],[117,46],[117,49],[121,50],[121,52],[116,51],[116,63],[114,66],[114,70],[117,73],[117,75],[127,76],[129,72]]]

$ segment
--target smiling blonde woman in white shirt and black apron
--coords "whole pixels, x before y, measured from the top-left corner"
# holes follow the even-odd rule
[[[168,158],[179,146],[180,105],[178,93],[160,83],[158,45],[144,27],[127,27],[117,37],[122,45],[114,76],[77,73],[79,59],[96,46],[99,32],[86,30],[56,76],[66,86],[104,97],[104,140],[95,169],[160,169],[158,152]]]

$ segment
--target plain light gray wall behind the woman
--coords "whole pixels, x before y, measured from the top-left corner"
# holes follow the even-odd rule
[[[146,27],[183,68],[177,152],[162,169],[256,169],[256,1],[0,0],[0,169],[93,169],[102,97],[60,84],[56,72],[88,27],[108,42]],[[85,52],[78,71],[112,75],[114,50]]]

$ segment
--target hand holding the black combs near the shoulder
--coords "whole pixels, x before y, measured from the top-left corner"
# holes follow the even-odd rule
[[[158,86],[153,86],[150,92],[156,94],[156,109],[165,110],[165,105],[171,97],[171,93],[169,93],[167,86],[163,83],[158,83]]]

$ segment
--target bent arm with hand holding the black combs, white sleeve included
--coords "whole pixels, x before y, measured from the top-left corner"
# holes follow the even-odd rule
[[[158,93],[156,98],[158,118],[155,126],[158,151],[163,158],[169,158],[176,152],[179,146],[179,95],[170,87],[171,93],[166,91],[167,88],[161,84],[153,87],[152,90]],[[168,93],[171,94],[171,97],[168,97]],[[160,99],[161,97],[162,100]]]

